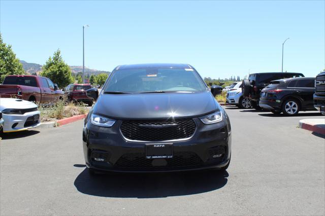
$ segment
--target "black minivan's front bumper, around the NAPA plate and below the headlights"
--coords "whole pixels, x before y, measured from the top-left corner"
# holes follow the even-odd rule
[[[197,130],[190,139],[172,142],[173,158],[146,159],[145,143],[157,142],[127,141],[119,130],[121,121],[117,121],[111,128],[103,128],[87,123],[86,119],[83,129],[86,165],[93,169],[117,172],[166,172],[226,166],[231,155],[230,124],[226,124],[226,120],[211,125],[204,125],[196,118],[194,121]],[[213,158],[214,151],[223,151],[223,156]],[[102,154],[101,157],[106,160],[94,161],[92,154]],[[165,165],[155,166],[156,160],[165,160]]]

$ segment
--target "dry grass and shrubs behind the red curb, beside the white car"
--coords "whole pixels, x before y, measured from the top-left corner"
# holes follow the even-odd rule
[[[66,105],[66,102],[59,100],[54,106],[39,104],[39,111],[41,112],[41,122],[48,122],[86,114],[87,108],[83,103],[70,102]]]

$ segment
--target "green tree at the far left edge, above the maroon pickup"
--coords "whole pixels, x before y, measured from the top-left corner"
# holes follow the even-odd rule
[[[0,33],[0,83],[2,83],[8,75],[23,75],[25,70],[16,54],[12,51],[11,45],[7,45],[2,40]]]

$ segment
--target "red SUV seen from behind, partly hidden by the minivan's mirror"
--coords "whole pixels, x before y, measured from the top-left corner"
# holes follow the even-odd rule
[[[91,89],[90,84],[71,84],[64,91],[64,97],[68,101],[84,102],[92,106],[93,99],[88,97],[86,91]]]

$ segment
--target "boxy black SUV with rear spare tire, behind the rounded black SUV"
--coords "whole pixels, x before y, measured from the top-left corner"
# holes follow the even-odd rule
[[[247,79],[243,80],[242,93],[244,97],[251,100],[251,105],[256,110],[261,110],[258,105],[261,90],[267,87],[271,81],[294,77],[305,77],[300,73],[257,73],[250,74]]]

